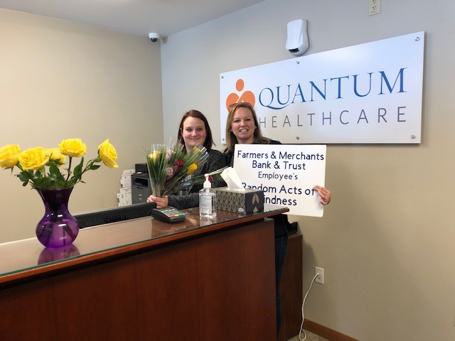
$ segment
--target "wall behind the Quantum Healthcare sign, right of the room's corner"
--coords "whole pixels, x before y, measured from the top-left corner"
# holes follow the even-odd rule
[[[330,145],[323,218],[292,217],[304,233],[305,316],[359,340],[455,340],[455,3],[266,0],[168,37],[161,45],[164,139],[188,109],[220,142],[219,75],[293,58],[286,25],[309,21],[319,53],[426,31],[422,144]],[[296,330],[296,334],[298,330]]]

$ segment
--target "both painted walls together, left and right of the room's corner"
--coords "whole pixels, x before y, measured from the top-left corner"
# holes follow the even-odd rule
[[[359,340],[454,340],[455,4],[384,0],[382,13],[366,12],[367,1],[266,0],[170,36],[160,51],[144,37],[0,9],[0,145],[80,137],[90,156],[109,138],[119,169],[88,174],[70,210],[110,207],[122,169],[174,138],[188,109],[208,116],[223,148],[220,72],[292,58],[287,22],[309,20],[307,54],[427,31],[422,144],[328,146],[333,202],[323,218],[291,218],[304,233],[304,290],[314,266],[325,269],[306,318]],[[0,242],[33,237],[38,195],[8,171],[0,185]]]

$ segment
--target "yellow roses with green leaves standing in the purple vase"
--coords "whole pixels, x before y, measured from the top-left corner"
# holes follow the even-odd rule
[[[28,183],[36,190],[59,190],[73,188],[82,182],[82,175],[87,171],[100,168],[104,163],[110,168],[117,168],[117,151],[109,143],[109,139],[98,146],[98,156],[84,165],[87,147],[80,139],[65,139],[58,148],[29,148],[21,151],[17,144],[9,144],[0,148],[0,166],[5,169],[19,169],[16,176],[22,185]],[[68,157],[68,167],[66,164]],[[74,158],[80,162],[73,168]],[[64,172],[60,172],[63,168]]]

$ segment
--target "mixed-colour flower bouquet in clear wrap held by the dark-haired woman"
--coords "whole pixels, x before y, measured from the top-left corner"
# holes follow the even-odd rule
[[[151,192],[157,197],[185,190],[192,185],[191,174],[208,159],[207,149],[196,146],[186,151],[183,145],[155,144],[146,155]]]

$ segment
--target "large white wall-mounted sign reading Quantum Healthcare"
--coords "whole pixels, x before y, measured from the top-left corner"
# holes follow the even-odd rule
[[[228,106],[254,105],[260,128],[287,144],[419,144],[424,32],[220,75]]]

